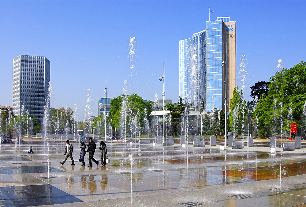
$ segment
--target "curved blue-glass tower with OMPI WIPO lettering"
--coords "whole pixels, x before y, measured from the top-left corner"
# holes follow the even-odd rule
[[[236,22],[230,17],[207,21],[206,30],[180,41],[179,91],[189,108],[224,109],[225,97],[232,98],[235,85]]]

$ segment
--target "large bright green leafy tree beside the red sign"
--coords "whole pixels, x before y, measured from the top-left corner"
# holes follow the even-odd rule
[[[254,111],[253,117],[258,118],[259,130],[269,127],[273,128],[272,133],[285,132],[289,130],[288,124],[291,121],[296,122],[299,128],[304,127],[305,79],[304,61],[292,68],[282,69],[270,78],[268,94],[260,98]]]

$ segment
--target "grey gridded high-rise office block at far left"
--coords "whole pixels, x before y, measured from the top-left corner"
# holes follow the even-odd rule
[[[27,112],[43,121],[50,82],[50,61],[42,56],[20,55],[13,59],[13,113]]]

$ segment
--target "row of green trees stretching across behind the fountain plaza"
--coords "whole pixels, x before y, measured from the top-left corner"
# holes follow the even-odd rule
[[[297,123],[298,135],[306,134],[306,63],[302,61],[289,69],[277,71],[269,82],[257,82],[251,87],[253,101],[246,102],[242,90],[234,89],[230,100],[230,113],[225,116],[224,110],[215,109],[201,116],[186,116],[188,106],[179,97],[178,104],[167,103],[165,109],[170,111],[166,116],[167,135],[179,136],[187,130],[190,136],[200,134],[224,134],[225,118],[228,119],[227,130],[235,134],[258,133],[262,138],[272,134],[289,132],[289,124]],[[154,101],[144,101],[136,94],[115,97],[111,102],[109,114],[97,118],[79,121],[70,107],[50,109],[49,133],[62,134],[65,130],[74,133],[84,130],[85,133],[104,135],[105,126],[108,134],[121,133],[128,136],[161,135],[162,119],[150,116],[157,107]],[[187,112],[186,112],[187,111]],[[28,133],[41,132],[41,123],[27,113],[10,117],[2,112],[0,127],[2,132],[12,132],[15,125],[19,130]],[[29,127],[32,124],[32,127]],[[125,130],[124,132],[122,130]]]

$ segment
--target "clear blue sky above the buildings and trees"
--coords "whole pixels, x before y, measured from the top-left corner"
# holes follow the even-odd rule
[[[0,104],[12,106],[13,58],[28,54],[51,62],[51,107],[77,103],[84,118],[86,91],[91,91],[91,111],[98,100],[128,93],[154,100],[162,98],[162,65],[165,62],[167,99],[179,96],[179,40],[206,29],[206,21],[230,16],[237,22],[237,73],[246,56],[249,87],[268,81],[278,59],[283,67],[306,56],[304,0],[195,1],[116,0],[45,1],[0,0]],[[129,37],[136,37],[136,71],[131,74]],[[238,82],[237,82],[238,83]],[[240,86],[240,85],[238,85]]]

